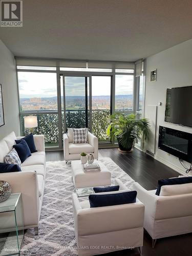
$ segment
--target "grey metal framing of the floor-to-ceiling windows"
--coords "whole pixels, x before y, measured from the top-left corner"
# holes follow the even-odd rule
[[[58,64],[58,63],[57,63]],[[20,66],[20,65],[19,65]],[[36,66],[38,67],[38,66]],[[44,114],[55,114],[58,115],[58,131],[59,131],[59,146],[57,147],[46,147],[46,151],[60,151],[63,149],[62,145],[62,120],[61,120],[61,84],[60,84],[60,76],[84,76],[84,77],[89,77],[89,83],[90,83],[90,131],[92,131],[92,118],[91,118],[91,113],[92,113],[92,76],[111,76],[111,109],[110,112],[111,114],[115,113],[115,76],[116,75],[131,75],[134,76],[134,81],[133,81],[133,113],[136,113],[136,77],[135,77],[135,71],[134,73],[124,73],[124,72],[115,72],[116,68],[115,66],[112,68],[112,72],[82,72],[82,71],[61,71],[59,65],[56,65],[56,71],[55,70],[39,70],[39,69],[17,69],[16,66],[16,76],[17,76],[17,92],[18,92],[18,102],[20,102],[20,97],[19,97],[19,87],[18,87],[18,72],[34,72],[34,73],[56,73],[57,77],[57,111],[34,111],[34,112],[23,112],[20,111],[19,108],[19,119],[21,121],[21,115],[26,114],[26,115],[44,115]],[[145,79],[145,78],[143,78]],[[63,79],[64,82],[65,79]],[[63,84],[62,84],[63,86]],[[63,95],[63,99],[64,99]],[[65,105],[65,101],[63,102]],[[64,109],[63,109],[64,110]],[[144,111],[144,102],[143,102],[143,111]],[[117,144],[114,141],[110,142],[100,142],[99,143],[99,148],[107,148],[107,147],[117,147]]]

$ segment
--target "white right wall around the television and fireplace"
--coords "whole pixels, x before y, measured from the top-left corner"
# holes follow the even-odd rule
[[[150,72],[157,68],[157,81],[150,82]],[[192,128],[167,123],[164,121],[166,89],[172,87],[192,86],[192,39],[163,52],[148,57],[146,60],[146,91],[145,91],[145,117],[152,122],[150,141],[145,144],[146,149],[153,151],[155,106],[162,102],[157,110],[156,154],[155,158],[172,167],[180,173],[185,173],[179,159],[158,149],[159,125],[172,129],[192,133]],[[192,95],[191,95],[192,98]],[[190,110],[192,111],[192,110]],[[189,163],[184,162],[187,167]],[[192,172],[191,174],[192,175]]]

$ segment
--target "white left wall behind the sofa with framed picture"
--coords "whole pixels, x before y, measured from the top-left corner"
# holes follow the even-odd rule
[[[0,40],[0,83],[2,84],[5,125],[0,127],[0,140],[14,131],[20,134],[15,60]]]

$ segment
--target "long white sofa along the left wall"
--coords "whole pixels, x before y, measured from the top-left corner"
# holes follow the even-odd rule
[[[0,162],[4,162],[5,155],[12,150],[15,139],[20,138],[12,132],[0,141]],[[10,183],[12,193],[22,193],[24,228],[34,228],[35,234],[38,234],[46,177],[44,135],[34,135],[34,142],[37,152],[22,163],[22,172],[2,173],[0,180]]]

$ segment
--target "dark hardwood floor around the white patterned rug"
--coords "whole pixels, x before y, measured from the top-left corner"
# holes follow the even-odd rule
[[[152,157],[134,148],[129,154],[123,154],[117,148],[100,149],[102,157],[110,157],[124,172],[147,190],[155,189],[159,179],[177,177],[179,174],[166,165],[158,162]],[[47,152],[47,161],[63,160],[63,152]],[[192,207],[192,206],[189,206]],[[163,238],[157,240],[156,246],[152,248],[152,239],[144,231],[143,256],[189,256],[192,255],[192,233],[181,236]],[[139,255],[137,248],[133,250],[122,250],[111,252],[109,256],[136,256]]]

